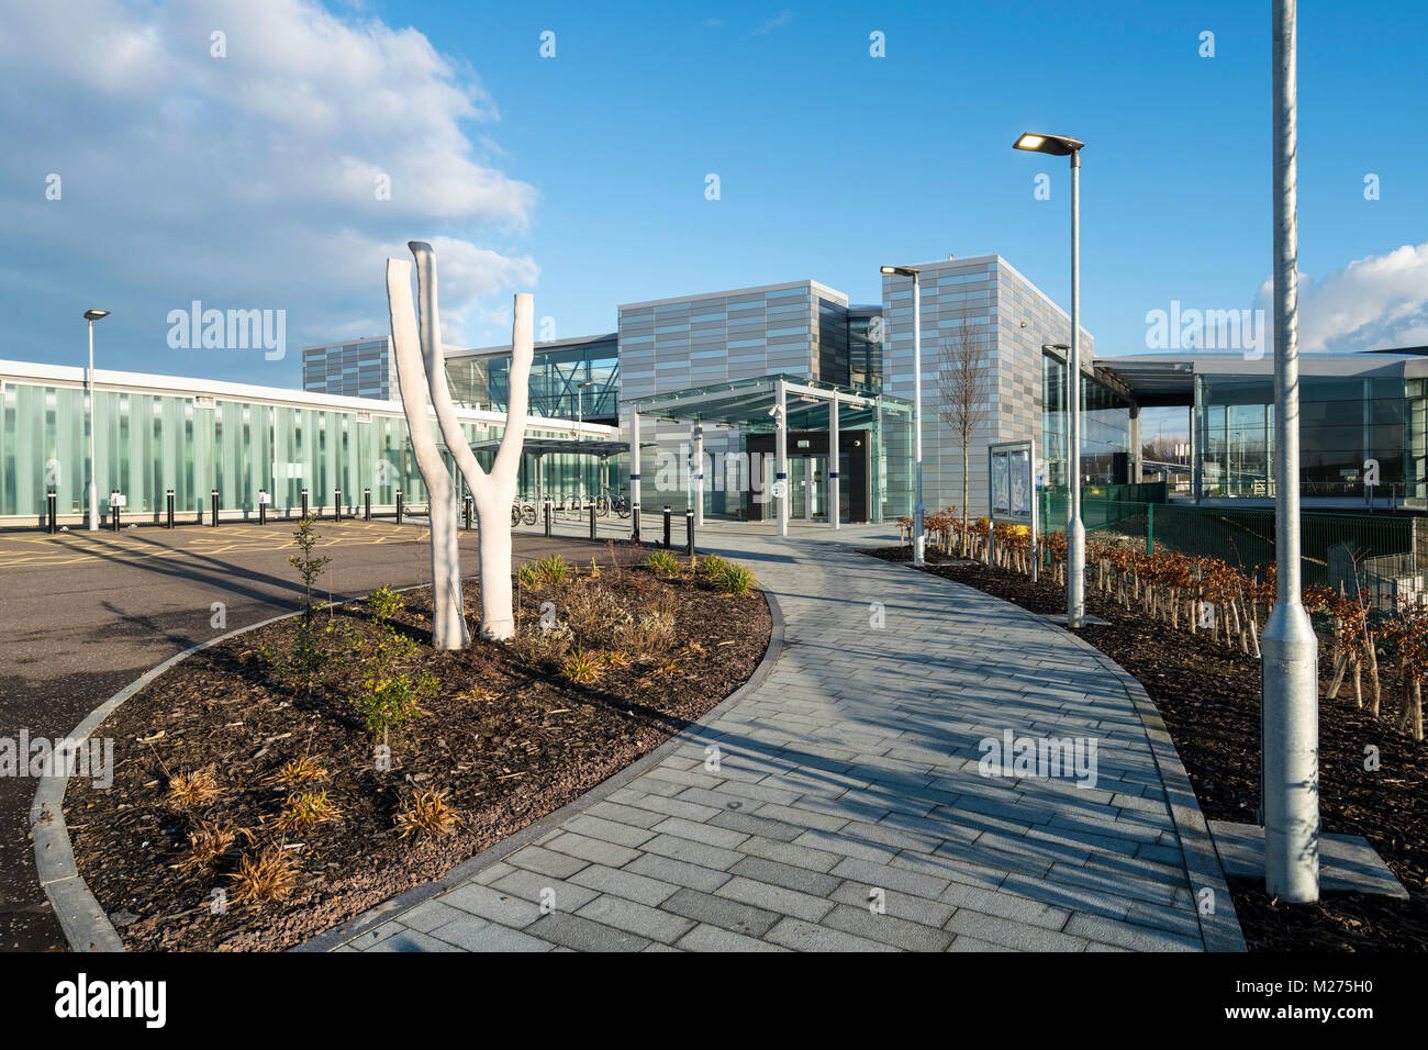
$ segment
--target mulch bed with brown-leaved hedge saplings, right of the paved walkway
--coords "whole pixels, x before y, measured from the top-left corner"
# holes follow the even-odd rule
[[[911,560],[908,547],[864,553]],[[1032,613],[1065,611],[1064,587],[1047,579],[1032,583],[981,563],[955,566],[937,551],[930,551],[927,571]],[[1087,589],[1087,611],[1110,624],[1077,633],[1145,687],[1165,719],[1205,817],[1254,823],[1259,806],[1259,661],[1207,637],[1147,623],[1094,587]],[[1322,690],[1331,670],[1328,647],[1321,646],[1319,653]],[[1235,911],[1251,950],[1428,950],[1428,744],[1391,724],[1398,676],[1387,664],[1381,673],[1379,719],[1355,709],[1347,686],[1339,699],[1319,700],[1321,819],[1325,831],[1368,839],[1409,900],[1325,891],[1317,904],[1284,904],[1265,897],[1262,880],[1232,879]],[[1369,744],[1379,750],[1377,771],[1364,769]]]

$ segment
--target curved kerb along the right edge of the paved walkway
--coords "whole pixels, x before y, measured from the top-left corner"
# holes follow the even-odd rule
[[[900,566],[914,573],[922,573],[922,576],[941,580],[942,583],[954,587],[977,590],[975,587],[968,587],[965,583],[958,583],[957,580],[948,580],[937,573],[922,571],[904,561],[891,561],[890,564]],[[1220,863],[1220,853],[1215,850],[1215,841],[1210,834],[1208,824],[1205,823],[1205,814],[1200,810],[1200,801],[1195,799],[1195,790],[1191,787],[1190,776],[1185,773],[1185,766],[1180,760],[1180,751],[1175,750],[1175,743],[1171,740],[1170,731],[1165,729],[1165,720],[1161,717],[1160,711],[1155,710],[1155,704],[1151,701],[1150,694],[1141,683],[1111,657],[1085,639],[1077,636],[1074,631],[1068,631],[1064,627],[1052,627],[1044,617],[1037,613],[1031,613],[1012,601],[998,599],[994,594],[987,594],[987,591],[977,593],[992,599],[994,601],[1001,601],[1044,630],[1058,630],[1060,633],[1070,634],[1071,640],[1077,646],[1087,650],[1092,659],[1095,659],[1095,661],[1101,664],[1101,667],[1104,667],[1117,683],[1120,683],[1127,699],[1131,701],[1131,706],[1135,709],[1135,714],[1141,720],[1141,727],[1145,730],[1145,739],[1151,746],[1151,757],[1155,760],[1155,767],[1161,776],[1161,784],[1165,787],[1165,801],[1170,807],[1171,820],[1175,824],[1175,837],[1180,839],[1181,856],[1185,860],[1185,874],[1190,880],[1191,891],[1195,894],[1195,914],[1200,921],[1200,934],[1205,944],[1205,950],[1247,951],[1248,947],[1245,946],[1244,931],[1240,929],[1240,917],[1235,914],[1234,899],[1230,896],[1230,886],[1225,881],[1225,871]],[[1214,911],[1210,914],[1205,914],[1200,909],[1198,894],[1204,889],[1208,889],[1212,893],[1211,900],[1214,903]]]

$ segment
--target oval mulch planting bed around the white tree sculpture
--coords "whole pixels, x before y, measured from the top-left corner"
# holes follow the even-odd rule
[[[510,643],[436,651],[430,590],[406,591],[390,626],[370,601],[318,614],[327,656],[311,694],[294,686],[298,621],[286,620],[194,654],[127,700],[96,731],[114,740],[113,787],[74,777],[64,806],[80,874],[126,946],[296,944],[441,876],[714,707],[758,666],[768,604],[757,589],[723,593],[687,563],[658,573],[644,556],[611,547],[564,581],[518,577]],[[474,580],[464,597],[474,633]],[[587,680],[570,680],[573,666]],[[421,713],[388,730],[390,770],[353,703],[378,667],[434,676]],[[428,791],[450,807],[450,830],[404,834]],[[307,823],[314,814],[327,819]],[[193,846],[204,827],[224,831],[213,856]],[[256,879],[238,879],[241,866],[267,854],[288,859],[286,900],[244,897]]]

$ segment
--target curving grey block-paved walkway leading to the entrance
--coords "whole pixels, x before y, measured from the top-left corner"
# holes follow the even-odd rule
[[[783,609],[763,684],[338,950],[1202,950],[1127,689],[1065,631],[847,546],[873,531],[705,530]],[[1004,730],[1094,740],[1095,787],[982,776]]]

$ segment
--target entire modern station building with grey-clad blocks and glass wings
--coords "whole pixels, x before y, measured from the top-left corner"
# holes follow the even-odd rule
[[[984,364],[970,510],[985,513],[992,443],[1034,440],[1041,483],[1064,489],[1065,311],[1000,256],[900,269],[918,271],[921,291],[927,509],[962,499],[961,437],[947,413],[950,364],[962,347]],[[627,303],[614,331],[537,343],[521,493],[627,491],[638,473],[647,514],[670,506],[765,520],[783,439],[793,520],[830,520],[834,493],[841,521],[910,514],[912,309],[908,276],[884,276],[871,304],[798,280]],[[1082,484],[1141,480],[1141,410],[1180,406],[1194,423],[1184,499],[1272,503],[1268,356],[1097,359],[1091,336],[1081,339]],[[388,341],[304,347],[301,391],[100,370],[100,501],[120,490],[131,520],[156,520],[169,489],[180,520],[208,513],[214,489],[228,517],[254,516],[260,491],[273,510],[300,506],[303,489],[317,507],[330,507],[338,489],[350,509],[370,490],[374,509],[390,511],[398,487],[408,504],[424,503]],[[476,444],[501,433],[510,360],[508,346],[448,347],[447,384]],[[1307,506],[1358,509],[1368,491],[1378,507],[1422,511],[1428,359],[1307,354],[1301,376]],[[81,369],[0,361],[0,523],[36,524],[50,490],[61,519],[83,517],[86,420]],[[564,444],[577,437],[605,444],[581,454]],[[643,447],[638,471],[608,444],[631,440]],[[1369,461],[1378,486],[1365,490]]]

